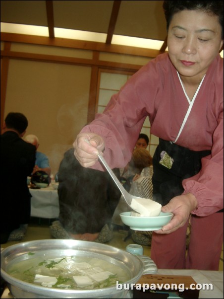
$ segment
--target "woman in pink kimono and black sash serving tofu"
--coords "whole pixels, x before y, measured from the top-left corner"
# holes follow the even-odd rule
[[[153,233],[158,268],[218,270],[223,244],[223,1],[164,1],[168,53],[113,95],[73,146],[84,167],[103,170],[131,158],[142,125],[160,143],[153,157],[153,196],[172,212]],[[85,142],[85,139],[90,144]],[[187,257],[186,230],[191,216]]]

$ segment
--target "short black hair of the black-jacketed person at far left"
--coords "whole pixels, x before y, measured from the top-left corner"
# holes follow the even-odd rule
[[[23,133],[28,126],[27,118],[19,112],[9,112],[4,121],[8,129],[14,129],[20,134]]]

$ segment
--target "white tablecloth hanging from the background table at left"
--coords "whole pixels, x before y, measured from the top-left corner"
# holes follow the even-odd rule
[[[59,204],[57,190],[52,186],[41,189],[30,189],[31,217],[57,218],[59,215]]]

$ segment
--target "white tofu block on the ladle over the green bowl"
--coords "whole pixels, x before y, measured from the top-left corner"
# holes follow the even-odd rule
[[[131,208],[140,213],[142,217],[154,217],[160,214],[162,206],[148,198],[133,198]]]

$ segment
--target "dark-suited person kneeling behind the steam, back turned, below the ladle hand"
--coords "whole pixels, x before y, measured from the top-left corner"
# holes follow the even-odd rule
[[[113,169],[119,177],[119,169]],[[120,191],[108,172],[84,168],[65,152],[57,173],[59,221],[50,227],[56,238],[98,241],[112,239],[111,219]]]

